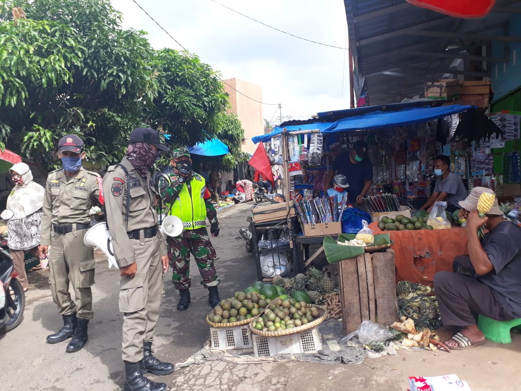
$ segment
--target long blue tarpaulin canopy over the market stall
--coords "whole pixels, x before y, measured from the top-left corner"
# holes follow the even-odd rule
[[[410,107],[394,111],[375,111],[361,115],[355,115],[339,119],[334,122],[317,122],[304,125],[284,126],[288,132],[297,130],[318,129],[322,133],[345,132],[354,130],[391,128],[393,126],[405,126],[443,118],[451,114],[464,112],[473,106],[450,105],[439,107]],[[282,132],[284,127],[274,128],[268,135],[252,138],[254,143],[267,142],[273,136]]]

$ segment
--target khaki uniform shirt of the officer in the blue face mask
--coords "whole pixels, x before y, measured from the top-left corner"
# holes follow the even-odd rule
[[[98,177],[83,167],[70,180],[63,168],[49,173],[43,198],[40,245],[51,245],[53,224],[90,224],[90,209],[98,204],[100,196]]]

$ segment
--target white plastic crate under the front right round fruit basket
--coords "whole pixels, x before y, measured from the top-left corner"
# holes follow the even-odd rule
[[[269,357],[282,353],[309,353],[322,349],[322,339],[317,327],[299,334],[265,337],[253,334],[255,357]]]

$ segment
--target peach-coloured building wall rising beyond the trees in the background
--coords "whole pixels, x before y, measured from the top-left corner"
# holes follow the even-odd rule
[[[242,150],[253,154],[256,145],[252,142],[252,137],[259,136],[264,133],[264,119],[262,107],[262,87],[241,79],[228,79],[226,83],[230,84],[235,90],[242,92],[244,95],[250,96],[258,102],[235,91],[230,85],[225,83],[225,91],[229,95],[231,108],[230,113],[237,114],[241,120],[244,129],[244,140],[242,141]]]

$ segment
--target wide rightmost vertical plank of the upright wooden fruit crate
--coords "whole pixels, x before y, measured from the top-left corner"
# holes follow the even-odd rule
[[[394,251],[373,253],[373,276],[378,323],[390,325],[398,320]]]

